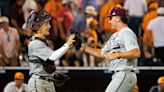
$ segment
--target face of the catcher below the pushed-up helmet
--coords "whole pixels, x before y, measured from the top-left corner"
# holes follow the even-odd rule
[[[46,22],[46,23],[42,24],[39,31],[42,35],[47,36],[47,35],[49,35],[49,29],[50,28],[51,28],[50,23]]]

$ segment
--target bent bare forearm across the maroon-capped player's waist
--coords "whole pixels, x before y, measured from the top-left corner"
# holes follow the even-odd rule
[[[118,58],[126,58],[126,59],[139,58],[141,55],[140,50],[138,48],[135,48],[128,52],[121,52],[121,53],[117,53],[117,54],[118,54]]]

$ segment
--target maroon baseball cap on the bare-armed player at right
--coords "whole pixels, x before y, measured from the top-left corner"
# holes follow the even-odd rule
[[[109,11],[108,17],[112,16],[120,16],[120,17],[127,17],[126,10],[120,7],[114,7]]]

